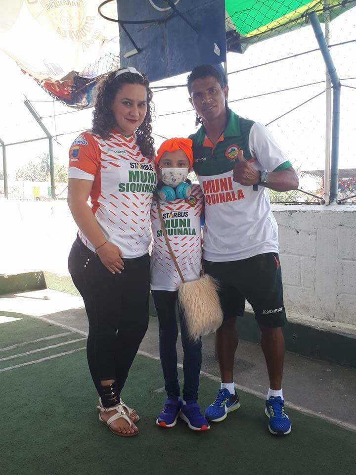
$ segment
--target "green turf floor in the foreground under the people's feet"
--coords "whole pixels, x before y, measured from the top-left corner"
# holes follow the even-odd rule
[[[41,328],[41,332],[40,329]],[[0,347],[64,332],[42,321],[1,324]],[[26,338],[25,338],[26,336]],[[3,338],[4,337],[4,338]],[[70,338],[80,338],[73,333]],[[6,343],[4,341],[6,340]],[[45,347],[58,340],[32,343]],[[4,344],[3,344],[4,343]],[[84,342],[85,343],[85,342]],[[22,357],[56,355],[83,342]],[[25,352],[26,346],[18,349]],[[0,357],[6,356],[6,351]],[[11,350],[9,355],[14,355]],[[17,364],[19,358],[6,361]],[[2,366],[3,367],[3,366]],[[1,368],[1,367],[0,367]],[[179,378],[181,378],[181,372]],[[96,392],[85,350],[0,373],[0,472],[6,475],[106,474],[288,474],[355,475],[356,434],[289,410],[292,433],[274,437],[267,430],[264,403],[240,393],[241,409],[209,432],[195,433],[180,420],[173,429],[154,422],[165,398],[160,363],[138,355],[122,394],[140,414],[140,433],[120,438],[97,420]],[[200,404],[208,405],[217,383],[201,378]],[[347,456],[344,456],[347,454]]]

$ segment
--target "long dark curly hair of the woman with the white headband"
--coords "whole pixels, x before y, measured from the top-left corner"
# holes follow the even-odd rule
[[[154,140],[152,137],[152,112],[153,93],[149,87],[146,76],[134,74],[131,72],[120,74],[114,79],[117,71],[109,73],[101,79],[96,87],[95,108],[93,112],[92,131],[103,139],[107,139],[117,124],[111,105],[115,95],[125,84],[140,84],[147,91],[147,112],[142,124],[136,130],[137,144],[140,147],[142,155],[153,157],[155,154]]]

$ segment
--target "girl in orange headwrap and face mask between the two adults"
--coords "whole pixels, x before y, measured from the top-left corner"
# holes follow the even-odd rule
[[[208,430],[208,421],[197,403],[201,338],[197,341],[190,338],[183,311],[178,306],[184,350],[183,400],[179,397],[176,303],[182,281],[164,236],[166,232],[184,281],[198,279],[202,269],[200,217],[204,200],[200,187],[191,186],[186,180],[193,164],[191,145],[190,139],[167,140],[160,146],[156,157],[161,183],[151,209],[151,290],[159,321],[160,358],[167,391],[167,400],[156,424],[174,427],[179,416],[192,430]]]

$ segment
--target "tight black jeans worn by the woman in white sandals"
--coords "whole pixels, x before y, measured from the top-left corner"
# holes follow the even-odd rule
[[[78,237],[68,259],[89,320],[89,370],[105,407],[113,402],[100,382],[114,380],[120,395],[148,326],[149,255],[123,261],[122,273],[111,274]]]

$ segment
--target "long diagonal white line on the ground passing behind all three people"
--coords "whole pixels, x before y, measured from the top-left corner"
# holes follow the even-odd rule
[[[58,327],[62,327],[66,330],[71,330],[72,332],[76,332],[76,333],[79,333],[81,335],[88,336],[88,332],[83,332],[82,330],[76,329],[74,327],[68,327],[67,325],[62,325],[58,322],[55,322],[54,320],[50,320],[50,319],[47,319],[47,318],[44,318],[44,317],[35,317],[35,318],[39,318],[41,320],[44,320],[47,323],[50,323],[52,325],[57,325]],[[147,358],[160,361],[159,356],[152,355],[151,353],[147,353],[146,351],[138,350],[137,353],[139,355],[146,356]],[[183,365],[181,363],[178,363],[178,368],[183,368]],[[0,370],[0,372],[1,371],[2,370]],[[210,380],[221,382],[221,379],[218,376],[211,375],[210,373],[205,373],[205,371],[201,371],[200,374],[202,376],[205,376],[206,378],[209,378]],[[250,388],[245,387],[245,386],[240,386],[239,384],[235,384],[235,387],[236,387],[236,389],[247,392],[248,394],[253,394],[254,396],[259,397],[260,399],[264,399],[264,400],[266,399],[266,395],[263,394],[262,392],[255,391],[254,389],[250,389]],[[293,403],[286,402],[285,405],[286,405],[286,407],[289,407],[291,409],[295,409],[296,411],[299,411],[299,412],[301,412],[303,414],[306,414],[308,416],[312,416],[312,417],[315,417],[317,419],[322,419],[323,421],[329,422],[330,424],[334,424],[335,426],[339,426],[339,427],[342,427],[343,429],[348,429],[348,430],[351,430],[353,432],[356,432],[356,425],[355,424],[350,424],[348,422],[341,421],[340,419],[335,419],[333,417],[326,416],[325,414],[314,412],[310,409],[307,409],[307,408],[301,407],[301,406],[297,406],[296,404],[293,404]]]

